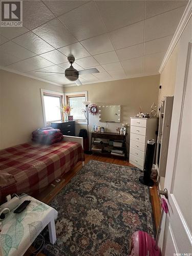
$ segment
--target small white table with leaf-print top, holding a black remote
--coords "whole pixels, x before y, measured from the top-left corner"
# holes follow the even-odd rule
[[[20,214],[10,212],[2,221],[0,232],[0,255],[23,255],[34,242],[38,234],[48,225],[49,238],[52,244],[56,241],[55,219],[57,211],[47,204],[26,195],[21,203],[31,200],[30,204]]]

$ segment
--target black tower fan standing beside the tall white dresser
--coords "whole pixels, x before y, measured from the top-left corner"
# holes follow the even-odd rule
[[[150,178],[153,166],[155,152],[155,140],[148,140],[146,146],[145,163],[143,169],[143,176],[139,178],[139,181],[147,186],[153,186],[154,182]]]

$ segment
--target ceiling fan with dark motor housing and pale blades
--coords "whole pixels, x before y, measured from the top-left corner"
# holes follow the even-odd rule
[[[71,66],[65,70],[65,77],[70,80],[74,81],[77,86],[80,86],[82,83],[79,80],[80,75],[86,75],[86,74],[93,74],[93,73],[99,73],[99,71],[95,68],[93,69],[83,69],[83,70],[76,70],[73,68],[73,62],[75,61],[74,56],[68,57],[69,63]],[[43,74],[64,74],[62,72],[44,72],[44,71],[36,71],[35,73],[43,73]]]

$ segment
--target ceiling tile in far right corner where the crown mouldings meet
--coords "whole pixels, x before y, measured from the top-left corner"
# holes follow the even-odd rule
[[[162,60],[165,56],[165,52],[154,53],[144,56],[144,74],[159,73]]]

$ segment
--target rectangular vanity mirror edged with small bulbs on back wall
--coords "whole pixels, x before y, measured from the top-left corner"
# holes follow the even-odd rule
[[[121,121],[120,105],[102,105],[99,106],[99,122],[115,122]]]

